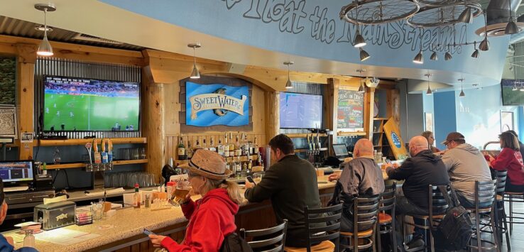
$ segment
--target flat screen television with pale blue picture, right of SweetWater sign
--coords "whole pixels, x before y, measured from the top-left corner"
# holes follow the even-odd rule
[[[280,92],[280,128],[321,128],[322,95]]]

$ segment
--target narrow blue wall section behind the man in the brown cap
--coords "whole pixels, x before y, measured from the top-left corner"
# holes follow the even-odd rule
[[[446,139],[447,133],[457,131],[457,114],[455,106],[455,92],[438,92],[433,94],[435,142],[437,148],[444,150],[446,146],[440,144]]]

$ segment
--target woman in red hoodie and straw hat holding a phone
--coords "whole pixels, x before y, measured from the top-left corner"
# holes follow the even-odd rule
[[[242,195],[239,185],[226,181],[231,170],[226,160],[211,150],[197,149],[187,165],[192,192],[180,207],[189,224],[185,239],[178,244],[168,236],[149,235],[153,246],[168,251],[219,251],[224,238],[236,231],[234,215],[239,211]],[[202,199],[192,201],[191,195],[200,194]]]

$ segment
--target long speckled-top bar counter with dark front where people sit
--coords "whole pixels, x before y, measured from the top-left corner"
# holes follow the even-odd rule
[[[318,177],[319,192],[322,204],[325,206],[332,197],[334,182],[327,182],[327,175]],[[241,190],[244,193],[244,190]],[[195,196],[194,199],[200,197]],[[268,200],[260,203],[249,203],[246,199],[242,202],[239,213],[235,216],[238,229],[261,229],[275,225],[275,215]],[[99,230],[99,226],[111,225],[110,229]],[[151,211],[151,209],[119,209],[113,217],[104,217],[85,226],[65,226],[60,229],[83,231],[99,234],[94,239],[82,241],[69,246],[40,241],[36,239],[38,251],[153,251],[153,245],[148,237],[142,233],[143,229],[153,231],[155,234],[171,236],[175,241],[182,241],[185,236],[187,219],[182,214],[180,207],[171,207]],[[9,236],[10,232],[4,233]],[[38,234],[37,234],[38,237]],[[16,243],[20,248],[23,243]]]

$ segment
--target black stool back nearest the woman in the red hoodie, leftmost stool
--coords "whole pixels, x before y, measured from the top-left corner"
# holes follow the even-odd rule
[[[282,224],[268,229],[246,230],[240,229],[240,236],[248,241],[253,251],[278,252],[284,251],[285,231],[288,229],[288,220],[284,219]],[[262,240],[258,240],[258,239]]]

